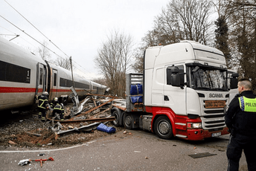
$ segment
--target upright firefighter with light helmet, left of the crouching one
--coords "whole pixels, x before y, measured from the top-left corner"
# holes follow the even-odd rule
[[[39,115],[38,117],[41,118],[41,120],[44,122],[45,121],[45,117],[46,117],[46,109],[48,109],[48,92],[44,91],[42,92],[42,95],[37,96],[36,95],[36,99],[39,100],[38,101],[38,109],[39,109]]]

